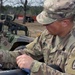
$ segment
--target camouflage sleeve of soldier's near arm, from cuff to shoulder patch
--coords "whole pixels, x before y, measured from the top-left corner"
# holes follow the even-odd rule
[[[65,72],[60,72],[45,63],[34,60],[31,75],[75,75],[75,47],[68,53],[64,68]]]

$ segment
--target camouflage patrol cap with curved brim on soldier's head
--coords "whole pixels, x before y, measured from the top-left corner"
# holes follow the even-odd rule
[[[75,0],[45,0],[44,10],[36,17],[41,24],[49,24],[75,14]]]

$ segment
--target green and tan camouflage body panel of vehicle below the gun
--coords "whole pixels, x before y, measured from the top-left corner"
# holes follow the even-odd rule
[[[1,32],[0,33],[0,51],[1,50],[10,50],[15,42],[18,41],[20,36],[11,34],[10,32]]]

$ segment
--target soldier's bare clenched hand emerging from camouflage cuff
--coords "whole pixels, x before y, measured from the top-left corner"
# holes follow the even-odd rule
[[[19,68],[30,69],[34,59],[26,54],[20,55],[16,58],[16,62]]]

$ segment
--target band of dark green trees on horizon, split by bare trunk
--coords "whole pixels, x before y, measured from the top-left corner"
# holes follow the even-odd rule
[[[3,12],[5,14],[24,14],[23,6],[17,6],[17,7],[12,7],[9,5],[4,6]],[[43,7],[42,6],[27,6],[26,7],[26,14],[27,15],[37,15],[42,11]]]

